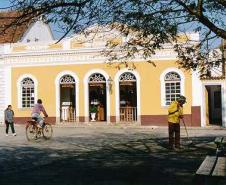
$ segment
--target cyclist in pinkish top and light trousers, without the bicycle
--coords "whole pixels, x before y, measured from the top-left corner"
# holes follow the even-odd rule
[[[44,124],[44,118],[41,116],[41,112],[44,114],[45,117],[48,117],[48,114],[46,113],[46,110],[44,106],[42,105],[42,100],[38,99],[37,103],[34,105],[31,113],[32,119],[37,121],[37,126],[39,128],[42,128]]]

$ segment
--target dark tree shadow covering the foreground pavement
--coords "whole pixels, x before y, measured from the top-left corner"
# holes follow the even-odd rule
[[[41,149],[38,144],[2,147],[0,184],[194,185],[194,174],[202,160],[215,154],[214,137],[192,138],[193,144],[180,151],[168,150],[167,138],[132,140],[101,148],[83,145],[84,141],[76,143],[75,139],[55,139],[71,142],[69,149]]]

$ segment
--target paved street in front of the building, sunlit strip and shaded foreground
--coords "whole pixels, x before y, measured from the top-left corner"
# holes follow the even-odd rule
[[[167,149],[166,127],[54,127],[51,140],[28,142],[0,127],[1,185],[193,185],[194,173],[225,129],[192,128],[193,144]],[[182,143],[185,132],[182,128]],[[222,185],[222,183],[221,183]]]

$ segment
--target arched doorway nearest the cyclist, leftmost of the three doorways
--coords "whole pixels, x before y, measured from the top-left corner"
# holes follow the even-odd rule
[[[71,75],[60,78],[60,121],[76,121],[76,84]]]

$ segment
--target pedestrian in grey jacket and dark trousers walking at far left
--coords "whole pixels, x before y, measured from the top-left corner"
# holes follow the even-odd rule
[[[8,136],[9,126],[11,127],[11,131],[13,136],[16,136],[16,132],[14,129],[14,112],[11,105],[8,105],[5,110],[5,124],[6,124],[6,136]]]

